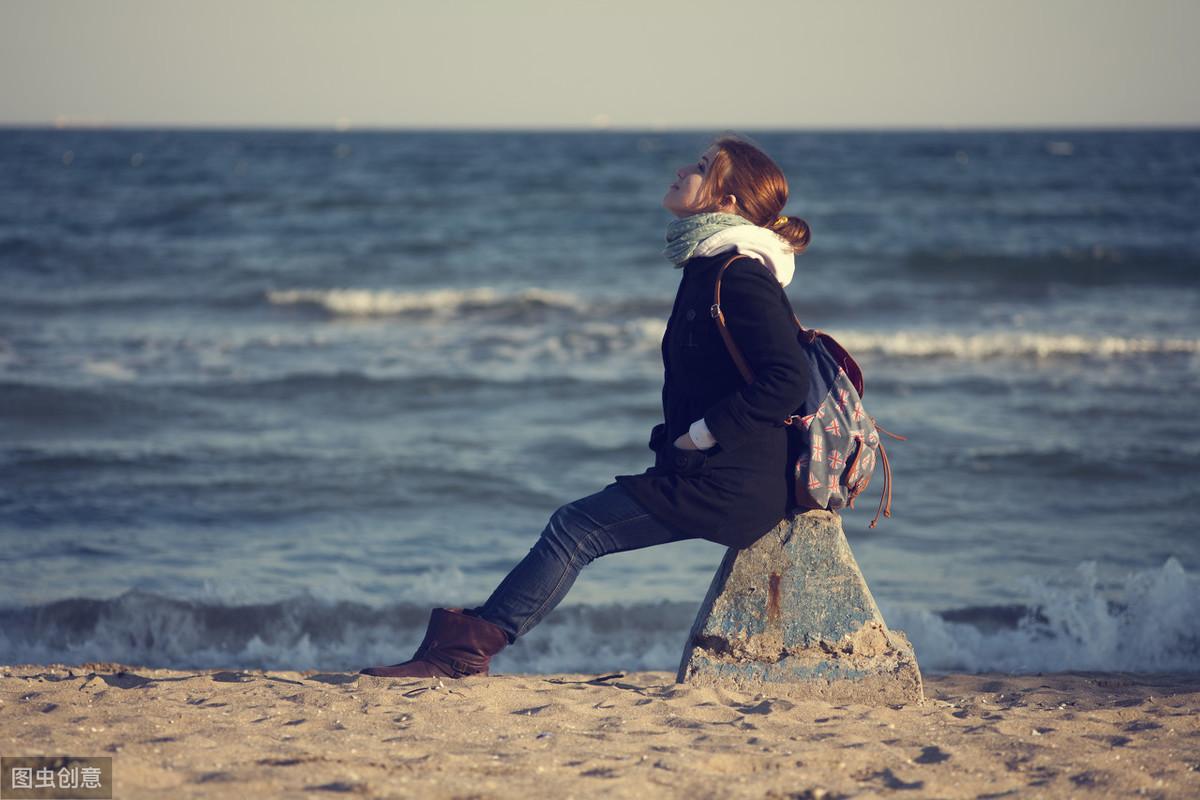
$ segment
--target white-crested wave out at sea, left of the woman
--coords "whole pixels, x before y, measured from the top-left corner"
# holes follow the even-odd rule
[[[430,289],[426,291],[395,291],[390,289],[284,289],[268,291],[275,306],[307,306],[338,317],[386,317],[407,313],[454,313],[463,311],[500,309],[530,311],[558,308],[575,311],[581,300],[566,291],[524,289],[500,291],[487,287],[476,289]]]

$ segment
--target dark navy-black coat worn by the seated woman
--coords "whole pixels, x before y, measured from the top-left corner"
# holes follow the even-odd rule
[[[650,433],[655,465],[616,481],[654,518],[684,535],[748,547],[796,505],[797,455],[784,425],[809,389],[808,363],[784,288],[760,261],[742,257],[721,278],[721,308],[755,375],[746,384],[709,309],[730,253],[684,263],[662,336],[664,422]],[[674,446],[704,417],[716,445]]]

